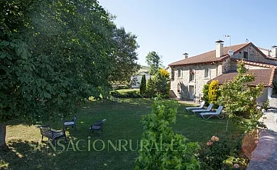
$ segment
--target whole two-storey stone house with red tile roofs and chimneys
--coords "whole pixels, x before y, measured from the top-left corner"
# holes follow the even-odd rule
[[[253,85],[263,84],[265,89],[260,102],[271,98],[273,82],[277,80],[277,46],[272,50],[256,47],[252,42],[224,47],[222,40],[218,40],[215,50],[200,55],[188,57],[169,64],[170,89],[175,96],[183,100],[202,96],[204,84],[218,80],[223,84],[236,75],[237,62],[244,60],[246,68],[255,75]],[[250,71],[251,70],[251,71]],[[261,76],[262,75],[262,76]]]

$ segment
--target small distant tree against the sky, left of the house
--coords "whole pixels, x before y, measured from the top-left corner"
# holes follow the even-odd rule
[[[158,73],[158,69],[161,68],[161,56],[157,52],[148,52],[146,56],[146,62],[150,66],[149,74],[155,75]]]

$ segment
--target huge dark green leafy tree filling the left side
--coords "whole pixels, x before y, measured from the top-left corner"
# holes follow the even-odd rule
[[[64,118],[109,91],[121,35],[97,1],[0,1],[0,9],[0,145],[9,120]]]

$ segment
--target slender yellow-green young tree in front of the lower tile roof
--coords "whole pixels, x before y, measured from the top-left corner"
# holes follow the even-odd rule
[[[261,125],[259,118],[261,118],[262,113],[256,108],[256,98],[261,95],[264,87],[249,85],[255,77],[252,74],[246,74],[244,62],[239,62],[237,72],[238,74],[233,80],[220,87],[221,97],[219,101],[224,105],[229,119],[235,123],[243,123],[251,130]]]

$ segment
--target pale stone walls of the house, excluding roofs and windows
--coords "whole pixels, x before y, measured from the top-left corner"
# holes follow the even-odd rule
[[[253,62],[263,62],[268,64],[277,64],[277,59],[264,57],[256,50],[255,47],[248,46],[241,49],[234,54],[232,58],[240,60],[244,57],[244,52],[248,52],[248,60]],[[267,69],[266,67],[258,67],[246,65],[248,69]],[[210,77],[205,77],[205,69],[210,68]],[[181,76],[178,77],[178,69],[181,70]],[[195,69],[195,80],[190,81],[190,69]],[[190,64],[183,66],[171,67],[171,85],[170,89],[174,91],[176,96],[182,99],[190,99],[189,86],[194,87],[194,94],[202,93],[204,84],[210,79],[214,79],[221,74],[237,69],[237,62],[232,62],[231,58],[224,60],[222,63],[215,64]],[[274,81],[277,81],[277,74],[275,74]],[[178,84],[180,84],[180,93],[178,92]]]

